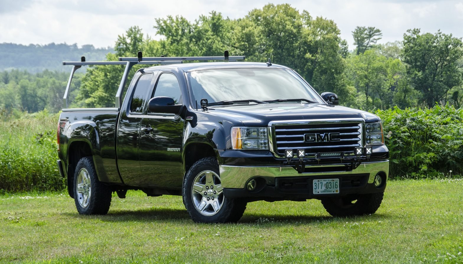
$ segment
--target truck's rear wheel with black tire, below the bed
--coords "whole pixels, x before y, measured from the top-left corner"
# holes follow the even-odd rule
[[[88,176],[81,176],[79,173],[88,173]],[[87,178],[88,177],[88,178]],[[85,180],[82,180],[85,178]],[[77,182],[79,179],[79,182]],[[86,181],[84,183],[84,181]],[[89,181],[89,184],[87,183]],[[78,184],[83,184],[80,191],[77,191]],[[86,188],[90,186],[90,188]],[[112,192],[108,186],[101,183],[96,175],[92,157],[84,157],[77,163],[74,172],[74,201],[77,211],[81,215],[106,215],[111,205]],[[88,198],[85,198],[88,193]],[[82,201],[84,202],[82,205]]]

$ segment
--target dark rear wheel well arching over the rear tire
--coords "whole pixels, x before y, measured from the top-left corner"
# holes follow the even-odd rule
[[[74,141],[68,149],[68,193],[74,198],[74,171],[79,160],[92,156],[92,149],[87,142]]]

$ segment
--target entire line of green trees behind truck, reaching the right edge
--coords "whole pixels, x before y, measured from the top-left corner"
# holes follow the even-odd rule
[[[289,4],[268,4],[238,19],[215,11],[193,22],[182,16],[156,18],[154,28],[162,39],[144,35],[138,26],[129,28],[106,60],[136,56],[139,50],[144,56],[216,56],[229,50],[246,55],[246,61],[270,58],[293,68],[318,92],[337,93],[345,106],[403,109],[438,103],[458,108],[463,102],[462,39],[440,31],[410,29],[400,41],[378,44],[380,29],[358,26],[350,51],[333,20],[314,18]],[[113,106],[122,73],[122,66],[88,68],[73,106]]]

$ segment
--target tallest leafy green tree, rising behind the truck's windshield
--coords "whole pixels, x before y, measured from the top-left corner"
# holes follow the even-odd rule
[[[343,59],[347,43],[339,37],[332,20],[313,19],[307,11],[299,12],[289,4],[265,5],[250,11],[243,20],[249,20],[251,28],[256,29],[250,36],[261,36],[257,38],[261,44],[252,46],[253,59],[270,58],[299,72],[319,92],[349,97]],[[238,25],[244,24],[243,20]]]

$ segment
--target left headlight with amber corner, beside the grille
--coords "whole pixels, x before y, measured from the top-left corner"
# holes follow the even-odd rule
[[[232,128],[233,149],[269,149],[267,128]]]

